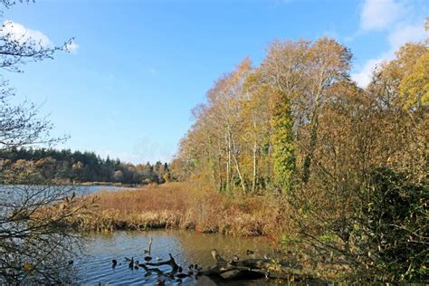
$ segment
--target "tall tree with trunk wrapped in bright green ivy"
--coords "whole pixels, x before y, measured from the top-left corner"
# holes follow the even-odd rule
[[[268,93],[272,114],[272,148],[274,180],[281,188],[289,189],[295,172],[295,138],[292,127],[295,120],[301,121],[298,110],[292,110],[295,100],[304,85],[303,65],[308,41],[275,41],[262,62],[262,78],[270,86]],[[293,114],[293,115],[292,115]]]

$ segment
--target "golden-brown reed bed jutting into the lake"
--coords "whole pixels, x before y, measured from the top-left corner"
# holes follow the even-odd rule
[[[205,233],[272,235],[287,225],[276,200],[261,195],[220,195],[183,183],[144,186],[92,195],[90,215],[75,224],[84,230],[182,228]]]

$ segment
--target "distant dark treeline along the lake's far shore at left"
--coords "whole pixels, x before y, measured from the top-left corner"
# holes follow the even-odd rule
[[[12,148],[0,154],[2,167],[31,165],[45,176],[59,176],[71,182],[105,182],[122,184],[164,183],[170,179],[167,163],[133,165],[94,152],[71,152],[70,149]],[[54,170],[47,172],[46,170]],[[49,173],[49,174],[48,174]]]

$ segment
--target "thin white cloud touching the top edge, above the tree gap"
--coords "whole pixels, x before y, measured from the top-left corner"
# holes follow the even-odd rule
[[[404,12],[405,5],[395,0],[366,0],[360,14],[360,26],[364,31],[386,29]]]

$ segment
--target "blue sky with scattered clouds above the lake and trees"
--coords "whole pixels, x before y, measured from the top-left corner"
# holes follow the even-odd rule
[[[213,82],[246,56],[260,63],[275,38],[336,38],[364,86],[377,62],[427,37],[428,11],[423,0],[37,0],[3,22],[46,44],[75,37],[72,52],[2,73],[49,114],[54,134],[70,135],[58,148],[165,161]]]

